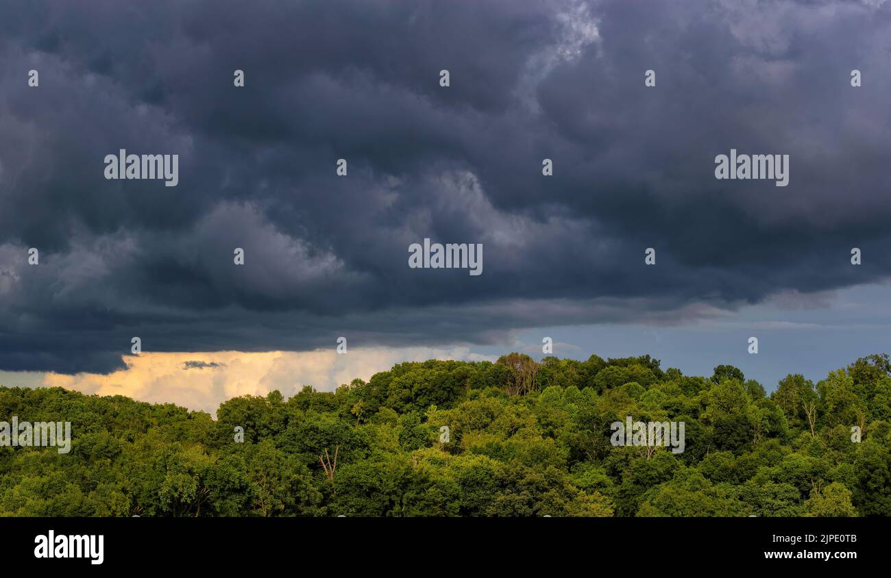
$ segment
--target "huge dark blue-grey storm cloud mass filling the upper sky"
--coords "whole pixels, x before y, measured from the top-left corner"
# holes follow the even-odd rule
[[[0,369],[110,370],[135,335],[493,343],[885,277],[889,28],[852,2],[6,4]],[[789,154],[789,186],[716,181],[731,148]],[[179,185],[106,181],[119,149],[178,154]],[[484,273],[408,268],[424,237]]]

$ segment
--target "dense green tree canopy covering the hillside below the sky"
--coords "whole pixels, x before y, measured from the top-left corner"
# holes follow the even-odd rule
[[[891,515],[887,355],[815,386],[789,375],[772,395],[726,365],[701,378],[649,355],[511,354],[238,397],[216,420],[0,387],[0,420],[13,415],[70,421],[73,442],[0,447],[6,516]],[[628,415],[683,421],[685,451],[611,445]]]

